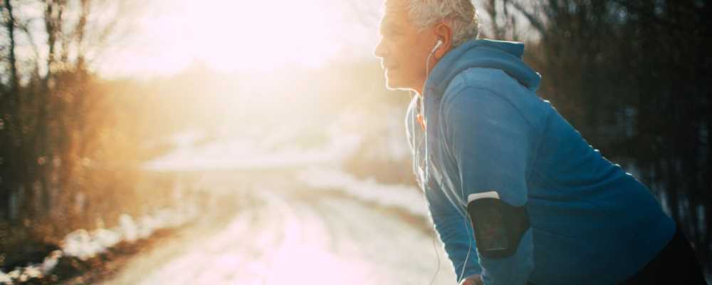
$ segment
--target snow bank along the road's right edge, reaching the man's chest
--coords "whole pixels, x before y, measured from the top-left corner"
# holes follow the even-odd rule
[[[386,207],[404,209],[410,214],[429,217],[423,192],[406,185],[384,185],[372,179],[358,180],[342,170],[309,167],[297,177],[310,187],[343,191],[347,194]]]

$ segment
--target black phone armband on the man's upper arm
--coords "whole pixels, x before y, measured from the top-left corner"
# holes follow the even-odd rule
[[[526,204],[511,206],[494,191],[472,194],[467,200],[477,251],[494,259],[513,256],[530,227]]]

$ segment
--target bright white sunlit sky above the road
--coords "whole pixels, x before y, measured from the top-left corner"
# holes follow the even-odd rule
[[[152,0],[100,73],[161,76],[201,63],[216,71],[271,71],[367,58],[380,0]]]

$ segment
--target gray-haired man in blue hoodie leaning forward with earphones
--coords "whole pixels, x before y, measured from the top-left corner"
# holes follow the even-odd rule
[[[461,284],[704,284],[649,190],[535,95],[523,45],[476,39],[469,0],[386,0],[380,32],[387,87],[417,93],[414,169]]]

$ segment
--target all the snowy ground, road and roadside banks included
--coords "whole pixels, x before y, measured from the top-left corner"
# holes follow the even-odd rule
[[[199,226],[131,259],[105,284],[454,284],[434,232],[423,231],[422,192],[357,180],[340,170],[362,143],[360,135],[342,131],[346,121],[330,125],[327,140],[309,149],[290,146],[300,132],[288,128],[261,140],[242,135],[197,143],[204,138],[199,132],[177,135],[174,152],[145,169],[205,173],[197,189],[208,197],[229,193],[242,207],[226,224],[200,213]],[[389,153],[405,151],[398,136],[388,141],[400,145]],[[419,219],[407,221],[384,209]],[[66,238],[63,252],[28,267],[28,274],[46,273],[61,254],[91,257],[195,216],[183,212],[137,222],[124,217],[116,229],[78,230]],[[3,277],[0,272],[0,283]]]

